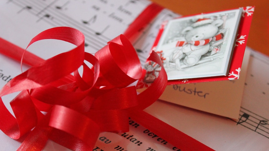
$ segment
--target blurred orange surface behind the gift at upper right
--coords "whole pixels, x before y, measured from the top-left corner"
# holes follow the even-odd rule
[[[255,6],[247,46],[269,56],[269,0],[151,0],[181,15]]]

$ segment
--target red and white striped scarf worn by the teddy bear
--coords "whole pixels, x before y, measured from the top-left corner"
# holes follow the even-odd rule
[[[206,45],[208,44],[210,41],[217,41],[217,40],[221,40],[223,39],[223,33],[220,33],[218,35],[215,35],[214,37],[205,39],[205,40],[197,40],[197,41],[178,41],[176,44],[176,47],[180,47],[186,44],[191,44],[191,45],[195,45],[195,46],[202,46],[202,45]]]

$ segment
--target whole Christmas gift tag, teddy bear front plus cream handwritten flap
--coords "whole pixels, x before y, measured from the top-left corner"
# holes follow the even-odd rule
[[[169,85],[159,99],[237,119],[253,11],[244,7],[164,21],[152,47],[168,76]],[[138,86],[148,87],[159,70],[158,64],[146,61],[145,78]]]

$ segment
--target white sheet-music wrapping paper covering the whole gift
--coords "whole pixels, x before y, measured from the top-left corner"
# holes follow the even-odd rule
[[[123,33],[128,24],[149,3],[146,0],[90,2],[86,0],[3,0],[0,1],[0,36],[26,48],[30,40],[41,31],[55,26],[71,26],[85,34],[86,51],[95,53],[108,40]],[[140,38],[134,43],[141,62],[147,57],[161,21],[177,16],[179,15],[164,10],[148,28],[141,32]],[[44,54],[36,48],[40,47],[32,47],[30,51],[43,58],[56,53]],[[2,87],[21,71],[19,63],[2,54],[0,54],[0,64],[0,86]],[[252,51],[238,120],[164,101],[156,101],[146,111],[215,150],[267,150],[269,148],[268,69],[268,57]],[[3,98],[6,106],[9,106],[9,100],[12,98],[12,96]],[[129,124],[130,132],[127,133],[101,133],[94,150],[180,150],[132,119],[129,120]],[[13,140],[0,131],[0,146],[3,150],[16,150],[23,139]],[[48,141],[44,150],[69,149]]]

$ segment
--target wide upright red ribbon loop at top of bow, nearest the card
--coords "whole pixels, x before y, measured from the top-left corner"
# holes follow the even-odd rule
[[[141,78],[142,68],[134,47],[124,35],[95,53],[102,76],[114,87],[127,87]]]

